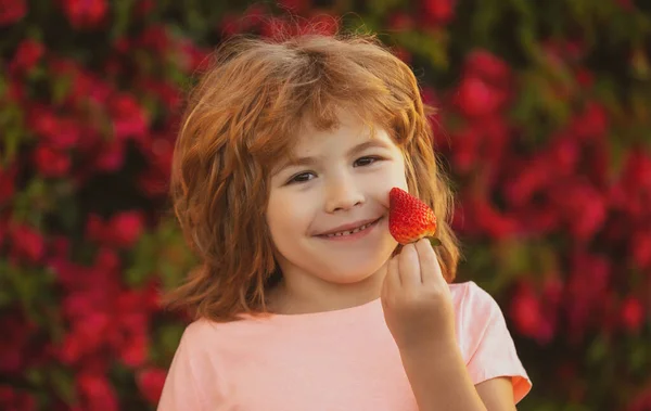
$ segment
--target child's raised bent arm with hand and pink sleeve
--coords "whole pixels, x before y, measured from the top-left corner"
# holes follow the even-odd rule
[[[384,317],[420,411],[512,411],[531,382],[499,306],[474,284],[464,292],[457,323],[449,286],[426,240],[406,245],[388,264]]]

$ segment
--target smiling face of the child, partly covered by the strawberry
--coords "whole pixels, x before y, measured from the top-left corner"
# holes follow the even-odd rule
[[[371,138],[360,121],[342,120],[334,131],[305,130],[293,154],[310,159],[280,165],[271,178],[266,217],[277,259],[285,280],[309,292],[368,279],[397,245],[388,192],[407,190],[403,153],[384,130]]]

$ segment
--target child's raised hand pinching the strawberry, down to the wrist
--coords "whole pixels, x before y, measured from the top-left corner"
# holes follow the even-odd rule
[[[454,343],[450,291],[429,240],[405,245],[390,260],[381,299],[386,325],[400,350]]]

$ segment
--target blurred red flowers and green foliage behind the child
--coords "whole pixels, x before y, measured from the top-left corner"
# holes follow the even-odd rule
[[[648,0],[0,0],[0,409],[155,408],[183,92],[225,38],[308,27],[378,33],[438,107],[520,410],[651,410]]]

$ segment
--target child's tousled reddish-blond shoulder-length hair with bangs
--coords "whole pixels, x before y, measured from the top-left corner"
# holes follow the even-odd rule
[[[401,147],[410,192],[438,218],[436,253],[454,280],[452,196],[411,69],[372,36],[235,38],[190,93],[175,147],[174,208],[202,264],[166,296],[169,307],[213,321],[267,311],[265,293],[280,275],[265,221],[267,176],[304,121],[333,129],[342,107]]]

